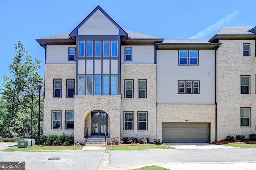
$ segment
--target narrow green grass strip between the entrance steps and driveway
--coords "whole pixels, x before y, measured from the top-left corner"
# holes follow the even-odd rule
[[[136,145],[136,146],[108,146],[106,150],[146,150],[146,149],[174,149],[170,146]]]

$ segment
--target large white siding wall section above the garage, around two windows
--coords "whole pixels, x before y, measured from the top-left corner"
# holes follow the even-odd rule
[[[214,50],[199,50],[199,65],[178,65],[178,50],[157,51],[158,104],[214,104]],[[178,94],[178,80],[200,81],[200,94]]]

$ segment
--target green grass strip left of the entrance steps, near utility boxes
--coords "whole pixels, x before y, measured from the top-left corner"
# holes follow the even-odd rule
[[[81,150],[82,146],[64,146],[64,147],[58,147],[58,146],[31,146],[28,148],[18,148],[18,146],[13,146],[8,149],[5,149],[6,152],[12,152],[12,151],[31,151],[31,150]]]

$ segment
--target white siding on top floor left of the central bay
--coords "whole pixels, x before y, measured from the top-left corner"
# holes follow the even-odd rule
[[[68,47],[76,45],[47,45],[46,64],[76,64],[76,61],[68,61]]]

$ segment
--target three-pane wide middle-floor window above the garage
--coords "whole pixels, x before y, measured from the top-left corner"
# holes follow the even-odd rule
[[[199,94],[199,81],[178,81],[178,93]]]

